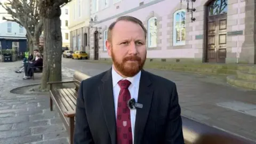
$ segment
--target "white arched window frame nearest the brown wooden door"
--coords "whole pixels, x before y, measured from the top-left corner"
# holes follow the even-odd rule
[[[179,42],[177,42],[176,41],[176,28],[175,28],[175,23],[176,23],[176,17],[175,17],[175,15],[177,14],[177,13],[180,13],[180,12],[185,12],[185,35],[186,35],[186,10],[185,9],[181,9],[181,10],[178,10],[178,11],[175,11],[174,13],[173,13],[173,34],[172,34],[172,36],[173,36],[173,46],[178,46],[178,45],[186,45],[186,36],[185,36],[185,41],[179,41]],[[180,17],[181,18],[181,17]]]

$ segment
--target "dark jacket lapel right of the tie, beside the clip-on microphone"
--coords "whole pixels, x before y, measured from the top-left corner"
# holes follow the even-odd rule
[[[138,103],[143,105],[142,108],[137,108],[134,130],[134,144],[142,143],[143,132],[148,119],[148,114],[151,106],[151,100],[153,97],[153,89],[149,74],[141,70]]]

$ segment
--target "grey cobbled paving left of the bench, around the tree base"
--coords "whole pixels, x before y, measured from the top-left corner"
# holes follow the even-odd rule
[[[50,144],[68,143],[67,132],[57,111],[50,111],[49,94],[19,95],[10,90],[40,83],[23,80],[23,73],[14,73],[21,62],[0,63],[0,144]],[[63,68],[63,78],[69,78],[73,71]]]

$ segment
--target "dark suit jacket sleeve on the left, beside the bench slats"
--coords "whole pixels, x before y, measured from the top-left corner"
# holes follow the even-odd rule
[[[76,119],[74,130],[74,144],[93,144],[92,135],[89,124],[87,122],[85,107],[84,107],[84,92],[86,87],[84,81],[79,86],[77,102],[76,102]]]

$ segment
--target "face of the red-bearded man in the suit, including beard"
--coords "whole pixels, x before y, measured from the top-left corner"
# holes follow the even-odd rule
[[[111,42],[106,42],[108,55],[122,76],[139,73],[146,60],[145,33],[140,25],[130,21],[118,21],[112,30]]]

